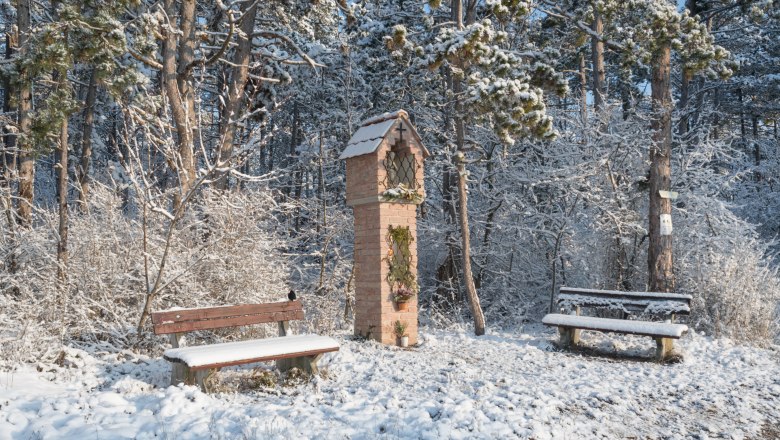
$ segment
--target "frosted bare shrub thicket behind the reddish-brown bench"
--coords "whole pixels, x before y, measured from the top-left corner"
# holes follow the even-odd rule
[[[96,185],[87,213],[73,215],[64,286],[56,277],[54,213],[38,212],[35,227],[2,242],[0,253],[7,266],[13,265],[13,270],[0,272],[4,362],[53,357],[72,339],[134,343],[147,277],[159,268],[168,219],[147,217],[145,250],[142,217],[128,214],[135,201],[126,197]],[[301,276],[291,261],[316,258],[290,252],[283,218],[271,191],[204,191],[173,234],[163,276],[167,286],[154,309],[286,300],[291,274]],[[307,309],[340,312],[345,264],[339,264],[326,278],[331,287],[321,289],[316,300],[304,300]],[[307,327],[335,328],[325,315],[314,313],[315,322]]]

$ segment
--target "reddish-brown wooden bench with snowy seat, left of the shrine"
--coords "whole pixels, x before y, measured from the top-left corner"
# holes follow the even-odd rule
[[[171,385],[184,382],[207,390],[206,379],[222,367],[276,361],[282,371],[293,367],[316,374],[324,353],[338,351],[336,340],[319,335],[291,335],[289,321],[303,319],[300,301],[242,304],[201,309],[172,309],[152,313],[156,335],[169,334],[173,348],[165,360],[173,363]],[[194,330],[213,330],[276,322],[279,337],[222,344],[180,347],[181,336]]]

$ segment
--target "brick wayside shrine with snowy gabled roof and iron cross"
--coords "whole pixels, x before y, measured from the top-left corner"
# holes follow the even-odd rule
[[[417,343],[417,205],[429,155],[398,110],[363,122],[339,157],[355,215],[355,335],[400,344],[400,321]]]

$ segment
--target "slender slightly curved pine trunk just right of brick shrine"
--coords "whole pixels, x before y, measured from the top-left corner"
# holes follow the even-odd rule
[[[453,0],[452,14],[458,29],[463,29],[463,4],[462,0]],[[459,63],[462,64],[462,63]],[[461,71],[462,65],[457,66]],[[465,123],[463,121],[463,84],[462,79],[457,75],[452,78],[452,91],[455,95],[455,138],[458,147],[456,154],[456,165],[458,168],[458,221],[460,223],[461,235],[461,264],[463,266],[463,284],[466,291],[466,297],[471,307],[471,315],[474,318],[474,334],[481,336],[485,334],[485,316],[482,313],[482,306],[477,296],[477,288],[474,286],[474,276],[471,271],[471,239],[469,237],[469,217],[468,217],[468,198],[466,193],[466,157],[465,157]]]

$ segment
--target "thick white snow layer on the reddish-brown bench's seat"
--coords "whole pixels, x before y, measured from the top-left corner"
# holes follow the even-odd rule
[[[242,359],[270,358],[307,351],[334,351],[338,349],[339,343],[327,336],[294,335],[171,348],[165,350],[165,357],[168,359],[179,359],[190,367],[199,367],[235,362]]]

